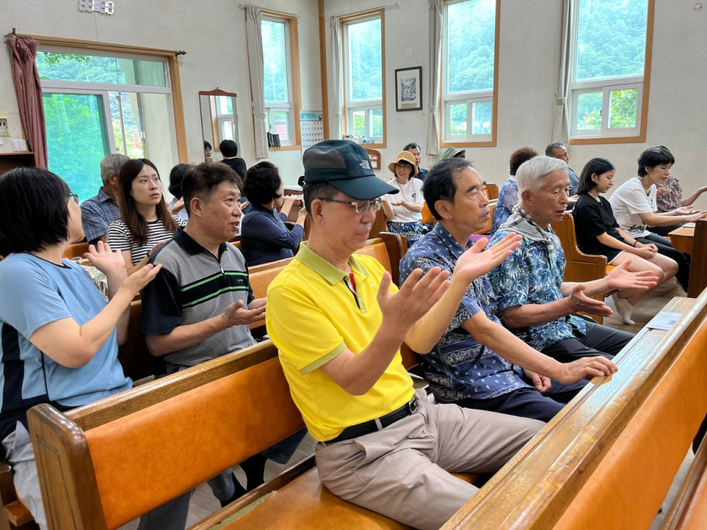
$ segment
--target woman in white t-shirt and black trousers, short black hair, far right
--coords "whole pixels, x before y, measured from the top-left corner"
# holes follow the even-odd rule
[[[638,176],[621,184],[609,199],[617,223],[626,234],[645,245],[655,245],[658,253],[677,262],[675,275],[680,286],[687,291],[690,278],[690,258],[678,252],[666,237],[648,231],[649,226],[670,226],[691,223],[705,214],[701,211],[678,208],[667,213],[657,213],[656,186],[664,184],[670,176],[674,158],[662,146],[646,149],[638,157]]]

